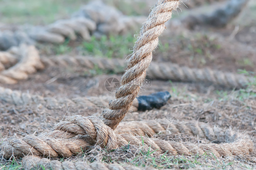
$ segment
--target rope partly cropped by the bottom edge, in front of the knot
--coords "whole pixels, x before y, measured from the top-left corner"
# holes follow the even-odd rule
[[[117,164],[117,163],[101,163],[101,162],[93,162],[86,163],[83,161],[73,162],[73,161],[64,161],[60,162],[57,160],[50,160],[47,158],[40,158],[38,156],[26,156],[22,159],[22,166],[25,170],[30,169],[40,169],[43,166],[46,170],[54,169],[54,170],[153,170],[154,168],[144,167],[139,168],[136,166],[131,166],[129,164]]]

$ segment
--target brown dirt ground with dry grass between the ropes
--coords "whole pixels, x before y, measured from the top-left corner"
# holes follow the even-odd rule
[[[256,72],[256,24],[240,28],[235,36],[231,36],[235,25],[226,28],[200,28],[189,31],[186,29],[169,29],[160,37],[160,45],[154,53],[154,61],[168,61],[181,66],[204,68],[210,67],[225,72],[237,73],[238,69]],[[168,44],[168,46],[165,44]],[[124,56],[125,58],[126,56]],[[100,74],[95,76],[74,73],[70,69],[46,68],[29,76],[28,80],[19,81],[15,85],[2,87],[18,90],[24,93],[54,98],[76,98],[89,96],[113,96],[104,87],[109,77],[118,74]],[[173,121],[199,121],[211,127],[248,134],[254,143],[254,152],[248,157],[239,155],[227,158],[213,158],[210,156],[170,156],[172,164],[156,162],[162,155],[153,153],[152,157],[145,157],[138,153],[138,148],[130,147],[129,154],[121,148],[106,152],[102,149],[95,152],[85,152],[70,160],[104,161],[110,163],[131,162],[136,166],[155,166],[157,168],[174,169],[255,169],[256,168],[256,98],[241,90],[233,90],[206,83],[184,83],[173,81],[152,80],[150,91],[141,92],[146,95],[167,90],[171,99],[161,109],[145,112],[129,112],[124,121],[167,119]],[[114,96],[113,96],[114,98]],[[102,107],[88,107],[86,105],[62,105],[49,109],[35,104],[15,106],[0,101],[0,134],[3,138],[14,133],[20,136],[26,134],[40,134],[49,131],[60,120],[68,115],[99,115]],[[211,142],[188,135],[156,135],[166,140],[189,141],[197,143]],[[125,146],[127,147],[127,146]],[[117,156],[118,155],[118,156]],[[125,156],[124,156],[125,155]],[[197,161],[195,161],[197,160]],[[19,162],[20,159],[17,159]],[[8,167],[8,160],[2,160],[2,165]],[[3,167],[0,169],[4,169]],[[8,168],[7,168],[8,169]]]

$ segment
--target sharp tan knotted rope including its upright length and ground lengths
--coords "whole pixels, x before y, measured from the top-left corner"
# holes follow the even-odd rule
[[[179,3],[179,0],[157,1],[138,35],[127,70],[121,79],[121,87],[116,91],[115,99],[110,100],[109,108],[104,109],[101,116],[71,116],[67,121],[57,123],[51,131],[43,132],[39,136],[26,135],[19,138],[14,135],[1,144],[1,154],[4,158],[28,154],[51,158],[71,157],[88,146],[99,145],[105,147],[106,150],[112,150],[126,144],[143,146],[150,150],[160,153],[168,152],[173,155],[211,152],[216,157],[221,157],[248,155],[252,152],[253,143],[246,136],[232,143],[193,144],[116,134],[113,131],[138,95],[140,86],[146,77],[146,69],[152,60],[152,51],[158,44],[158,36],[165,29],[164,23],[171,18],[172,10],[177,9]]]

